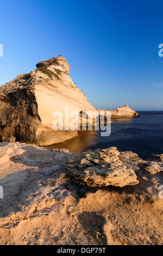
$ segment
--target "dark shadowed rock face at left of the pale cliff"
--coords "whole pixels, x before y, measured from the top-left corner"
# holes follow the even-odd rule
[[[0,87],[0,92],[4,93],[4,88]],[[0,141],[15,137],[16,141],[34,143],[40,125],[34,86],[0,95]]]

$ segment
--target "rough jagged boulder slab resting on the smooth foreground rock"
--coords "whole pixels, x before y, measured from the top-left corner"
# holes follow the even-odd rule
[[[67,161],[67,169],[74,178],[91,187],[137,184],[139,181],[133,168],[124,164],[119,159],[119,154],[116,147],[87,150],[85,153],[74,154]]]

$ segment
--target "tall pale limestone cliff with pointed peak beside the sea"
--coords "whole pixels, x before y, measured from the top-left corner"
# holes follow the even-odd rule
[[[84,93],[69,76],[62,56],[36,65],[37,69],[0,87],[0,140],[50,145],[77,136],[75,131],[54,131],[54,111],[94,111]]]

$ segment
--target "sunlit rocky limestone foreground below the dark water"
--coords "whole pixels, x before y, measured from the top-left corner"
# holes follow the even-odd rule
[[[1,245],[162,245],[163,154],[0,144]]]

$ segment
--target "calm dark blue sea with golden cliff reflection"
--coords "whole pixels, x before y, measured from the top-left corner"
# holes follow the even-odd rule
[[[79,136],[48,148],[68,148],[74,153],[87,149],[117,147],[130,150],[142,159],[163,153],[163,111],[139,111],[140,117],[113,119],[111,135],[100,131],[79,131]]]

